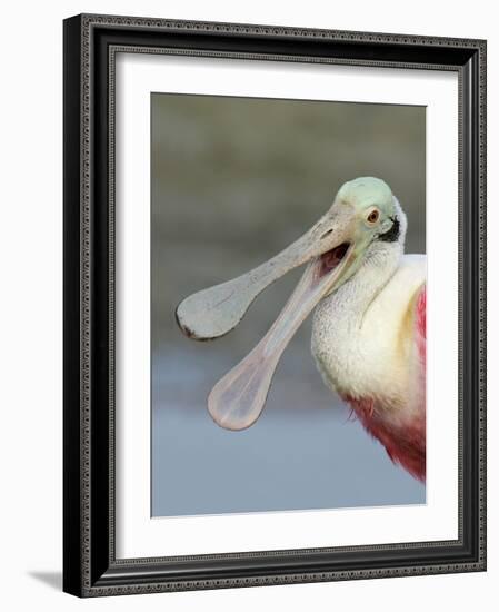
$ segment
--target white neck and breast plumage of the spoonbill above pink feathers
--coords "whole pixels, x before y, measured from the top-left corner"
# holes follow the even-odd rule
[[[400,344],[400,328],[410,300],[426,280],[426,256],[402,256],[377,295],[375,274],[356,275],[319,304],[312,354],[326,384],[340,394],[379,398],[387,408],[403,405],[410,413],[408,402],[415,409],[419,404],[413,373],[419,358],[412,338]]]

